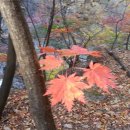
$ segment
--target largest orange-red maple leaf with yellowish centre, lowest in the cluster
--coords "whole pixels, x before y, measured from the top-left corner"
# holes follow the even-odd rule
[[[56,105],[58,102],[62,102],[67,110],[70,111],[74,99],[85,103],[84,94],[81,91],[85,88],[89,88],[89,86],[81,82],[81,77],[75,76],[75,74],[68,77],[58,75],[58,78],[49,82],[49,88],[45,95],[51,95],[52,106]]]

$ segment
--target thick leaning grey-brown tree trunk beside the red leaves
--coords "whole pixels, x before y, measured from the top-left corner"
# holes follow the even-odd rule
[[[0,0],[0,10],[7,23],[20,69],[28,90],[31,112],[37,130],[56,130],[45,81],[39,70],[38,58],[19,0]]]

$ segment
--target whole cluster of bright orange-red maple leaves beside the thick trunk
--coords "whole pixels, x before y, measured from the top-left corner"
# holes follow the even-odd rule
[[[45,59],[39,60],[41,70],[53,70],[62,66],[65,61],[63,57],[75,57],[77,55],[92,55],[100,57],[98,51],[88,51],[85,48],[73,45],[70,49],[55,49],[52,47],[41,47],[42,54],[46,54]],[[89,68],[82,68],[83,75],[76,76],[76,73],[69,76],[58,75],[48,82],[48,89],[45,95],[51,96],[51,105],[54,106],[62,102],[68,111],[72,109],[74,100],[85,103],[84,89],[91,88],[94,85],[100,87],[103,91],[109,93],[109,87],[116,88],[115,77],[111,74],[111,70],[99,63],[94,64],[92,61]],[[84,82],[86,81],[87,82]]]

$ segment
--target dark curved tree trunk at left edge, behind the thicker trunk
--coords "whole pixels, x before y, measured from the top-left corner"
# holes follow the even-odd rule
[[[0,117],[6,105],[7,98],[9,96],[10,88],[15,73],[15,68],[16,68],[16,54],[14,51],[12,40],[9,36],[7,65],[6,65],[3,82],[0,88]]]

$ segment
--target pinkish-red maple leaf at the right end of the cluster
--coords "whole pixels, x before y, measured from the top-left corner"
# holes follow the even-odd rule
[[[111,70],[99,63],[90,62],[89,69],[84,69],[84,76],[90,86],[97,85],[103,91],[109,92],[108,87],[116,88],[114,83],[115,76],[111,74]]]

